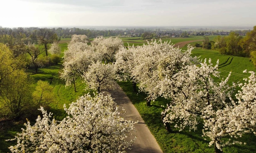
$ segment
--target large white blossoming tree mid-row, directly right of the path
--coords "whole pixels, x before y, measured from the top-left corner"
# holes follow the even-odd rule
[[[191,57],[191,46],[184,53],[169,42],[148,42],[147,45],[137,46],[134,59],[135,67],[132,69],[132,76],[136,78],[140,91],[148,94],[147,105],[151,100],[161,96],[160,82],[168,77],[169,79],[179,72],[185,65],[196,62],[196,57]]]

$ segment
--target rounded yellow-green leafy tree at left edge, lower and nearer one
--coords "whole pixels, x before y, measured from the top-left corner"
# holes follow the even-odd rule
[[[19,120],[28,115],[32,108],[32,82],[24,71],[15,71],[1,88],[0,117]]]

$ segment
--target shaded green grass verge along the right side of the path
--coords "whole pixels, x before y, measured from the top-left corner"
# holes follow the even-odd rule
[[[197,131],[185,129],[179,132],[177,129],[173,133],[168,133],[161,122],[161,112],[164,110],[161,105],[166,106],[169,100],[158,98],[151,107],[146,106],[146,94],[134,93],[131,82],[118,82],[126,95],[134,104],[135,108],[145,121],[149,130],[156,138],[163,153],[214,153],[214,147],[209,147],[209,140],[202,138],[202,125]],[[224,153],[254,153],[256,152],[254,135],[245,135],[241,141],[246,145],[233,145],[224,147]]]

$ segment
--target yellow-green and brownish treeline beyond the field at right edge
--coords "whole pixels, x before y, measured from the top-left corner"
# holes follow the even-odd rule
[[[195,44],[195,47],[200,47],[199,45]],[[219,50],[219,53],[225,55],[251,57],[256,65],[256,26],[252,31],[246,33],[245,37],[234,31],[230,32],[229,36],[217,36],[214,41],[205,37],[202,48]]]

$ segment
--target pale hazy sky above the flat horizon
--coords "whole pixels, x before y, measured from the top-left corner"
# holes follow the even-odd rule
[[[255,26],[256,0],[2,0],[0,26]]]

